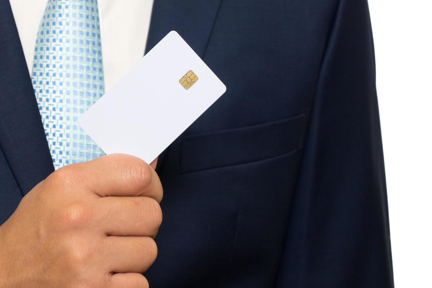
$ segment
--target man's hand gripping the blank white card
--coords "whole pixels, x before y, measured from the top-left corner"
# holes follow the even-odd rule
[[[161,199],[156,172],[133,156],[58,169],[0,226],[0,287],[148,287]]]

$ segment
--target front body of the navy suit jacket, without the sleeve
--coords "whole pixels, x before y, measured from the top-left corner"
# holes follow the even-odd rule
[[[153,287],[258,288],[273,281],[330,6],[155,0],[146,51],[176,30],[227,91],[159,157],[164,220],[158,258],[146,272]],[[14,87],[0,92],[2,222],[52,169],[25,58],[13,43],[18,34],[7,19],[0,21],[0,85]]]

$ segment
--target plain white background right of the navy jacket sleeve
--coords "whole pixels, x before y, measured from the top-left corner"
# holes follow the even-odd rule
[[[432,1],[369,0],[394,282],[432,287]]]

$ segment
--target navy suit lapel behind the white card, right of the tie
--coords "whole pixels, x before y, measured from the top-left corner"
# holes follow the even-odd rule
[[[154,0],[146,53],[175,30],[201,58],[207,47],[221,0]],[[159,171],[166,150],[159,155]]]

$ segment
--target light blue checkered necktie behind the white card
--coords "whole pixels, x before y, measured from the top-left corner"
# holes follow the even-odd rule
[[[104,155],[77,123],[104,94],[96,0],[48,0],[32,83],[54,168]]]

